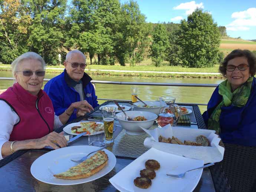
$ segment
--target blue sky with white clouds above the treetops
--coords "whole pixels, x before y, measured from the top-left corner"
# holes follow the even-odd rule
[[[187,19],[187,14],[201,7],[212,14],[218,26],[226,26],[230,37],[256,39],[256,0],[137,0],[137,3],[147,22],[180,23],[180,19]]]

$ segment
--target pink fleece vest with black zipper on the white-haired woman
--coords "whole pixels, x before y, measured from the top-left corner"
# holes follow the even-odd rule
[[[54,110],[49,96],[41,89],[37,96],[14,83],[0,95],[20,117],[9,141],[38,139],[53,131]]]

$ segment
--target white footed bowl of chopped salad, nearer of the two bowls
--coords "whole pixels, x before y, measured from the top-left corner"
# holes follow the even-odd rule
[[[119,124],[122,128],[125,129],[125,132],[128,135],[143,135],[145,134],[144,130],[140,128],[140,126],[144,129],[149,129],[155,119],[157,119],[157,115],[155,113],[147,112],[147,111],[126,111],[127,116],[134,119],[137,116],[144,116],[146,121],[127,121],[125,120],[124,113],[116,114],[116,118],[118,119]]]

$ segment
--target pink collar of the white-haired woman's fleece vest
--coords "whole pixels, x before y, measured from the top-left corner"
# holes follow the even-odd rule
[[[32,95],[27,90],[25,90],[19,83],[13,84],[13,91],[17,94],[17,96],[25,103],[35,105],[36,100],[43,96],[43,90],[40,89],[37,96]]]

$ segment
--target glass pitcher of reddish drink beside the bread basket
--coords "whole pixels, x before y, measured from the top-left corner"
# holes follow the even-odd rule
[[[171,124],[171,126],[177,126],[180,116],[180,106],[176,104],[171,104],[170,106],[167,105],[160,108],[156,122],[159,128],[169,123]]]

